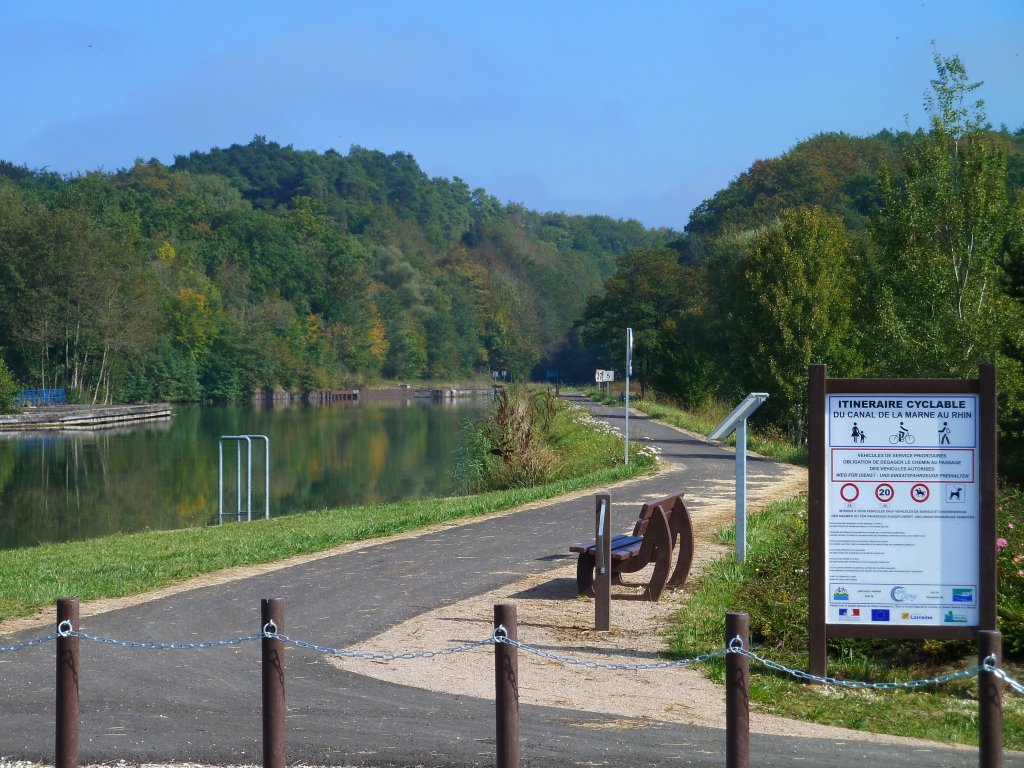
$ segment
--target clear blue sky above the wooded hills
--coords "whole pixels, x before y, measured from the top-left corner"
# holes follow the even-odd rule
[[[1024,126],[1024,0],[0,0],[0,159],[408,152],[540,211],[682,228],[759,158],[926,124],[933,46]]]

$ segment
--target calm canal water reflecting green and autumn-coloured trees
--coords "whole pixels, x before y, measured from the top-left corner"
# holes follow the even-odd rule
[[[270,516],[451,495],[465,425],[485,400],[180,406],[169,422],[92,433],[0,433],[0,549],[215,523],[222,435],[269,438]],[[239,508],[238,443],[223,442],[223,507]],[[264,443],[242,443],[241,507],[262,517]]]

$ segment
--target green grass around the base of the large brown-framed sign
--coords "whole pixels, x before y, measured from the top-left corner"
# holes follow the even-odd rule
[[[755,652],[792,669],[807,669],[806,509],[805,499],[795,499],[750,516],[746,561],[724,558],[701,573],[674,618],[674,655],[688,657],[722,647],[726,611],[741,610],[750,614]],[[722,531],[721,538],[731,536]],[[830,641],[828,653],[830,676],[867,682],[922,679],[977,664],[968,644],[936,641]],[[724,682],[724,663],[716,660],[706,669],[712,679]],[[750,695],[757,709],[783,717],[977,743],[974,678],[914,691],[846,690],[803,684],[752,662]],[[1024,699],[1009,688],[1002,718],[1007,749],[1024,749]]]

